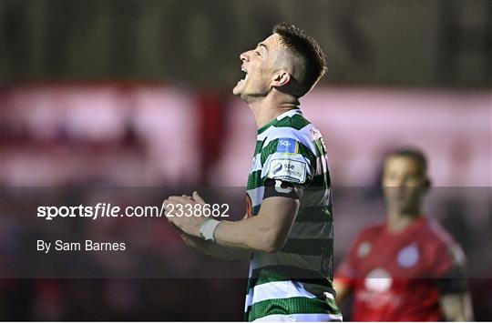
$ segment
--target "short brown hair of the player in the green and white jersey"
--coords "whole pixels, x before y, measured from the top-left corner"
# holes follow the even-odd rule
[[[294,56],[302,59],[304,73],[298,81],[302,84],[302,96],[305,95],[326,71],[326,61],[320,45],[312,36],[289,23],[274,25],[272,32],[280,35],[283,45],[286,45]]]

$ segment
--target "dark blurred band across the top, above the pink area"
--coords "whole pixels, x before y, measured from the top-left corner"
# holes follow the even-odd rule
[[[153,79],[229,91],[240,75],[231,58],[289,21],[325,50],[323,82],[487,87],[491,13],[489,1],[477,0],[4,0],[2,77]]]

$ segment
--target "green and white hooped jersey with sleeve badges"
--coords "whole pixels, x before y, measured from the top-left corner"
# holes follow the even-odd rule
[[[248,217],[259,213],[269,178],[300,187],[300,208],[282,249],[251,257],[246,320],[341,321],[332,286],[333,211],[326,148],[300,109],[258,130],[248,177]]]

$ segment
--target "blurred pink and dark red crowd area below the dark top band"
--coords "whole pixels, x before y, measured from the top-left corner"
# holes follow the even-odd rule
[[[435,179],[426,212],[465,249],[476,318],[490,319],[489,94],[424,95],[427,103],[415,91],[341,87],[302,101],[328,146],[335,262],[360,228],[384,219],[378,178],[384,152],[423,147]],[[242,319],[248,262],[191,251],[163,219],[48,224],[33,218],[41,204],[153,206],[195,187],[212,202],[227,200],[241,217],[255,140],[246,106],[229,96],[159,84],[19,86],[0,99],[0,319]],[[426,121],[412,119],[413,100]],[[473,102],[466,115],[458,112],[465,100]],[[46,258],[34,251],[40,236],[120,239],[132,247],[109,256]],[[19,269],[26,266],[30,270]]]

